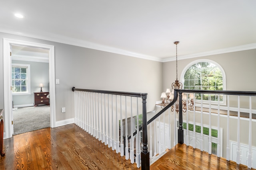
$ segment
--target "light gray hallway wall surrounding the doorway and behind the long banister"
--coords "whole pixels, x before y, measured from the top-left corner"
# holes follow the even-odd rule
[[[74,118],[76,88],[148,93],[147,111],[155,109],[163,87],[162,63],[118,55],[73,45],[0,32],[0,39],[43,43],[55,47],[56,121]],[[3,41],[0,41],[0,66],[3,66]],[[3,80],[3,70],[0,70]],[[4,108],[3,81],[0,82],[0,108]],[[61,112],[66,107],[66,112]]]

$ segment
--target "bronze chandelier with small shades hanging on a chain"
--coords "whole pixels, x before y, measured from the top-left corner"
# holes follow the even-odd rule
[[[179,41],[175,41],[174,44],[176,45],[176,80],[175,82],[172,83],[172,92],[170,91],[170,88],[166,89],[166,92],[163,92],[161,97],[162,98],[162,104],[161,107],[164,108],[165,106],[167,106],[167,104],[169,104],[170,102],[172,102],[173,97],[174,97],[174,89],[182,89],[182,83],[179,82],[178,80],[178,55],[177,55],[177,45],[178,43],[180,43]],[[167,96],[166,96],[167,94]],[[188,107],[187,107],[187,94],[182,94],[182,112],[186,112],[187,109],[189,110],[193,110],[194,107],[194,94],[191,93],[190,94],[190,100],[188,100]],[[166,98],[166,100],[165,100]],[[172,111],[176,111],[176,113],[179,112],[179,98],[176,100],[175,105],[171,106],[171,110]]]

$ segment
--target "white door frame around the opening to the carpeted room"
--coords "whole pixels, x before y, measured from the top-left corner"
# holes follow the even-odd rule
[[[3,71],[4,71],[4,139],[12,137],[12,96],[11,96],[11,57],[10,46],[22,45],[49,50],[49,84],[50,84],[50,126],[56,127],[56,100],[55,100],[55,55],[54,46],[32,43],[15,39],[3,39]],[[44,120],[42,120],[44,121]]]

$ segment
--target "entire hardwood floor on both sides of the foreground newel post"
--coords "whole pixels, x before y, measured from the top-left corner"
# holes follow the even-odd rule
[[[136,170],[80,127],[70,124],[46,128],[4,139],[0,170]],[[150,170],[246,170],[244,165],[178,144]]]

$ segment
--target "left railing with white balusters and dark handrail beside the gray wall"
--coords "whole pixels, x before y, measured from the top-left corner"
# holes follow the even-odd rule
[[[72,91],[75,124],[116,153],[125,155],[126,160],[130,159],[132,164],[135,162],[139,168],[140,134],[132,134],[135,124],[136,129],[140,128],[138,115],[143,108],[138,98],[142,98],[142,94],[77,88],[72,88]],[[131,139],[128,140],[129,136]]]

